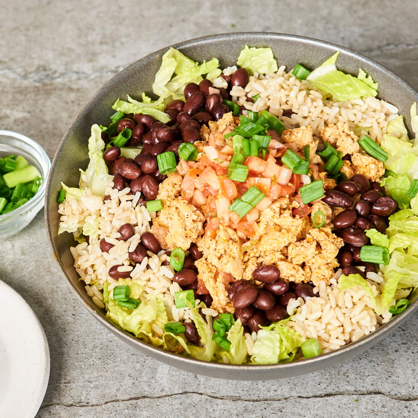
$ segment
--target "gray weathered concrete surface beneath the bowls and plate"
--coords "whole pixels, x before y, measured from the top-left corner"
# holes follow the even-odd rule
[[[413,1],[0,0],[0,10],[0,127],[35,139],[51,158],[77,112],[117,71],[198,36],[319,38],[370,56],[418,88]],[[155,362],[100,326],[61,277],[42,212],[0,250],[0,279],[28,301],[49,342],[51,377],[38,418],[418,417],[418,315],[321,372],[215,380]]]

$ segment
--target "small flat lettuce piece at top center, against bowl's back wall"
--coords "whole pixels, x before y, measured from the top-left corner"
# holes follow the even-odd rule
[[[265,74],[278,70],[271,48],[249,48],[245,45],[237,59],[237,64],[245,68],[250,76],[255,72]]]

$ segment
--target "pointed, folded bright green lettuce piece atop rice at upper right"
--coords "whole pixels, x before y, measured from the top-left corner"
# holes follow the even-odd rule
[[[312,71],[306,79],[322,91],[332,94],[340,102],[357,97],[376,96],[377,92],[370,87],[369,80],[367,84],[357,77],[336,69],[335,62],[338,54],[339,51]]]

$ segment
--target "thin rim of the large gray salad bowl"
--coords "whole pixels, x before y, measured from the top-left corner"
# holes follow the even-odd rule
[[[94,94],[94,96],[89,99],[89,101],[84,105],[84,107],[82,108],[82,110],[80,110],[80,112],[76,115],[76,117],[74,118],[73,122],[71,122],[71,125],[69,126],[69,128],[66,130],[66,133],[63,137],[63,139],[61,140],[61,143],[59,144],[59,147],[56,151],[56,154],[54,156],[54,159],[52,161],[51,164],[51,171],[54,170],[56,164],[57,164],[57,159],[58,159],[58,155],[61,153],[62,148],[64,148],[66,139],[69,137],[71,131],[74,129],[74,125],[83,117],[83,112],[85,109],[87,109],[90,105],[90,103],[94,100],[94,98],[102,91],[104,90],[109,84],[112,84],[113,82],[117,81],[118,77],[120,76],[120,74],[130,71],[130,69],[140,60],[143,59],[152,59],[154,57],[157,56],[161,56],[163,55],[166,51],[168,51],[169,48],[176,48],[181,50],[182,48],[185,47],[191,47],[195,44],[199,44],[202,45],[205,42],[212,42],[212,41],[227,41],[227,40],[231,40],[231,38],[247,38],[248,36],[257,36],[257,37],[264,37],[266,38],[266,41],[268,40],[268,38],[276,38],[276,39],[283,39],[283,40],[292,40],[292,41],[296,41],[296,42],[300,42],[300,43],[307,43],[311,46],[319,46],[319,47],[328,47],[330,52],[334,51],[344,51],[344,54],[347,54],[348,56],[352,56],[355,59],[361,59],[362,61],[366,61],[368,64],[372,65],[373,67],[380,69],[381,71],[385,72],[385,74],[389,75],[392,79],[395,79],[395,81],[397,81],[400,84],[403,84],[403,87],[408,90],[411,94],[415,95],[418,97],[418,93],[416,92],[415,89],[413,89],[413,87],[411,87],[408,83],[406,83],[402,78],[400,78],[400,76],[396,75],[393,71],[390,71],[389,69],[387,69],[385,66],[377,63],[376,61],[370,59],[369,57],[366,57],[358,52],[355,52],[349,48],[345,48],[343,46],[339,46],[337,44],[331,43],[331,42],[327,42],[327,41],[321,41],[315,38],[308,38],[305,36],[298,36],[298,35],[290,35],[290,34],[284,34],[284,33],[274,33],[274,32],[234,32],[234,33],[222,33],[222,34],[217,34],[217,35],[209,35],[209,36],[203,36],[203,37],[199,37],[199,38],[193,38],[191,40],[187,40],[187,41],[183,41],[180,43],[176,43],[173,44],[171,46],[167,46],[165,48],[161,48],[158,51],[155,51],[151,54],[148,54],[140,59],[138,59],[137,61],[133,62],[132,64],[130,64],[129,66],[125,67],[124,69],[122,69],[121,71],[119,71],[117,74],[115,74],[111,79],[109,79],[97,92],[96,94]],[[244,39],[242,39],[244,41]],[[245,39],[247,41],[247,39]],[[77,298],[79,298],[79,300],[84,304],[84,306],[87,308],[87,310],[102,324],[104,325],[107,329],[109,329],[113,334],[117,335],[120,339],[122,339],[122,341],[127,342],[128,344],[130,344],[133,347],[138,348],[142,353],[144,354],[148,354],[147,352],[150,352],[152,354],[150,354],[150,357],[153,358],[158,358],[158,361],[162,361],[166,364],[170,364],[173,367],[177,367],[175,365],[176,362],[181,362],[183,364],[189,364],[191,367],[193,367],[193,365],[201,365],[201,366],[205,366],[205,367],[209,367],[212,370],[214,369],[218,369],[219,371],[222,372],[237,372],[238,370],[242,371],[242,372],[248,372],[251,370],[257,370],[257,372],[263,372],[263,371],[271,371],[272,369],[274,369],[277,373],[278,376],[273,377],[273,379],[279,379],[281,376],[279,375],[280,372],[285,372],[286,370],[292,369],[294,367],[301,367],[301,366],[306,366],[306,369],[308,370],[308,372],[313,372],[315,370],[320,370],[320,369],[324,369],[326,367],[329,367],[332,364],[336,364],[338,362],[344,361],[344,357],[343,354],[344,353],[348,353],[348,352],[352,352],[351,355],[346,355],[345,359],[348,359],[349,357],[352,357],[354,355],[356,355],[357,353],[363,352],[365,349],[367,349],[368,347],[371,347],[373,344],[379,342],[382,338],[384,338],[385,336],[387,336],[388,334],[390,334],[391,332],[395,331],[396,328],[398,328],[398,326],[400,326],[406,319],[408,319],[409,316],[411,316],[413,314],[413,312],[415,312],[418,309],[418,300],[417,298],[415,298],[415,300],[410,303],[410,305],[408,306],[407,309],[405,309],[405,311],[403,311],[401,314],[396,315],[393,319],[391,319],[387,324],[384,324],[384,326],[380,326],[380,328],[378,328],[376,331],[372,331],[369,335],[362,337],[361,339],[359,339],[356,342],[351,342],[339,349],[336,349],[334,351],[331,351],[329,353],[326,354],[321,354],[317,357],[312,357],[310,359],[302,359],[302,360],[298,360],[296,362],[288,362],[288,363],[276,363],[276,364],[224,364],[224,363],[217,363],[217,362],[206,362],[204,360],[199,360],[199,359],[194,359],[194,358],[189,358],[189,357],[184,357],[178,354],[174,354],[168,351],[165,351],[163,349],[154,347],[151,344],[145,343],[143,341],[141,341],[140,339],[136,338],[135,336],[133,336],[132,334],[130,334],[128,331],[123,330],[122,328],[120,328],[119,326],[117,326],[116,324],[114,324],[113,322],[109,321],[108,319],[106,319],[102,314],[100,314],[96,308],[94,308],[92,306],[92,304],[87,303],[84,298],[82,297],[82,295],[79,293],[78,289],[75,288],[75,286],[71,283],[71,280],[69,280],[69,278],[67,277],[61,263],[59,262],[59,257],[55,251],[54,248],[54,243],[52,240],[52,233],[51,233],[51,228],[50,228],[50,224],[48,223],[47,219],[48,219],[48,197],[50,194],[50,179],[48,178],[47,181],[47,189],[46,189],[46,196],[45,196],[45,222],[46,222],[46,230],[47,230],[47,235],[48,235],[48,241],[49,241],[49,245],[51,247],[51,251],[54,255],[54,258],[56,260],[56,263],[58,265],[59,270],[61,271],[61,274],[64,276],[64,279],[66,280],[67,284],[69,285],[69,287],[71,288],[71,290],[75,293],[75,295],[77,296]],[[54,232],[56,233],[56,232]],[[417,293],[418,290],[416,292],[413,293]],[[411,294],[412,295],[412,294]],[[416,294],[414,295],[416,296]],[[374,343],[371,343],[372,340],[375,340]],[[363,348],[364,347],[364,348]],[[153,355],[154,354],[154,355]],[[343,357],[342,360],[338,361],[336,360],[337,357]],[[173,365],[174,362],[174,365]],[[310,366],[314,366],[315,364],[324,364],[323,367],[310,367]],[[185,370],[185,369],[183,369]],[[200,369],[202,370],[202,369]],[[192,371],[192,370],[191,370]],[[193,371],[192,371],[193,372]],[[299,372],[298,374],[304,374],[305,372]],[[203,374],[203,373],[202,373]],[[267,376],[266,376],[267,377]],[[286,376],[284,376],[286,377]],[[224,378],[231,378],[231,377],[224,377]],[[233,377],[232,377],[233,378]],[[267,377],[269,378],[269,377]],[[271,377],[270,377],[271,379]],[[250,379],[245,379],[245,380],[250,380]],[[257,379],[257,380],[262,380],[262,379]],[[264,380],[264,379],[263,379]]]

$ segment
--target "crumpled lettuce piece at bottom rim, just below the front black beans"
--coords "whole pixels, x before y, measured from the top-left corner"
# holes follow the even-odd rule
[[[285,325],[290,319],[261,327],[252,347],[253,364],[276,364],[293,360],[297,347],[306,339]]]

